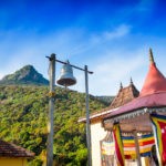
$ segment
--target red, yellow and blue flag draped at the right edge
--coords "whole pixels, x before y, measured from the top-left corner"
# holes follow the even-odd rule
[[[151,120],[154,128],[159,164],[162,166],[165,166],[166,165],[166,116],[152,114]]]

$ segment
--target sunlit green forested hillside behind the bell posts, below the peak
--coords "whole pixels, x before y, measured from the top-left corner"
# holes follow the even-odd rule
[[[40,166],[45,158],[48,86],[0,86],[0,138],[35,153],[29,166]],[[86,165],[85,125],[77,123],[85,116],[85,94],[55,89],[54,160],[59,166]],[[90,112],[105,104],[90,96]]]

